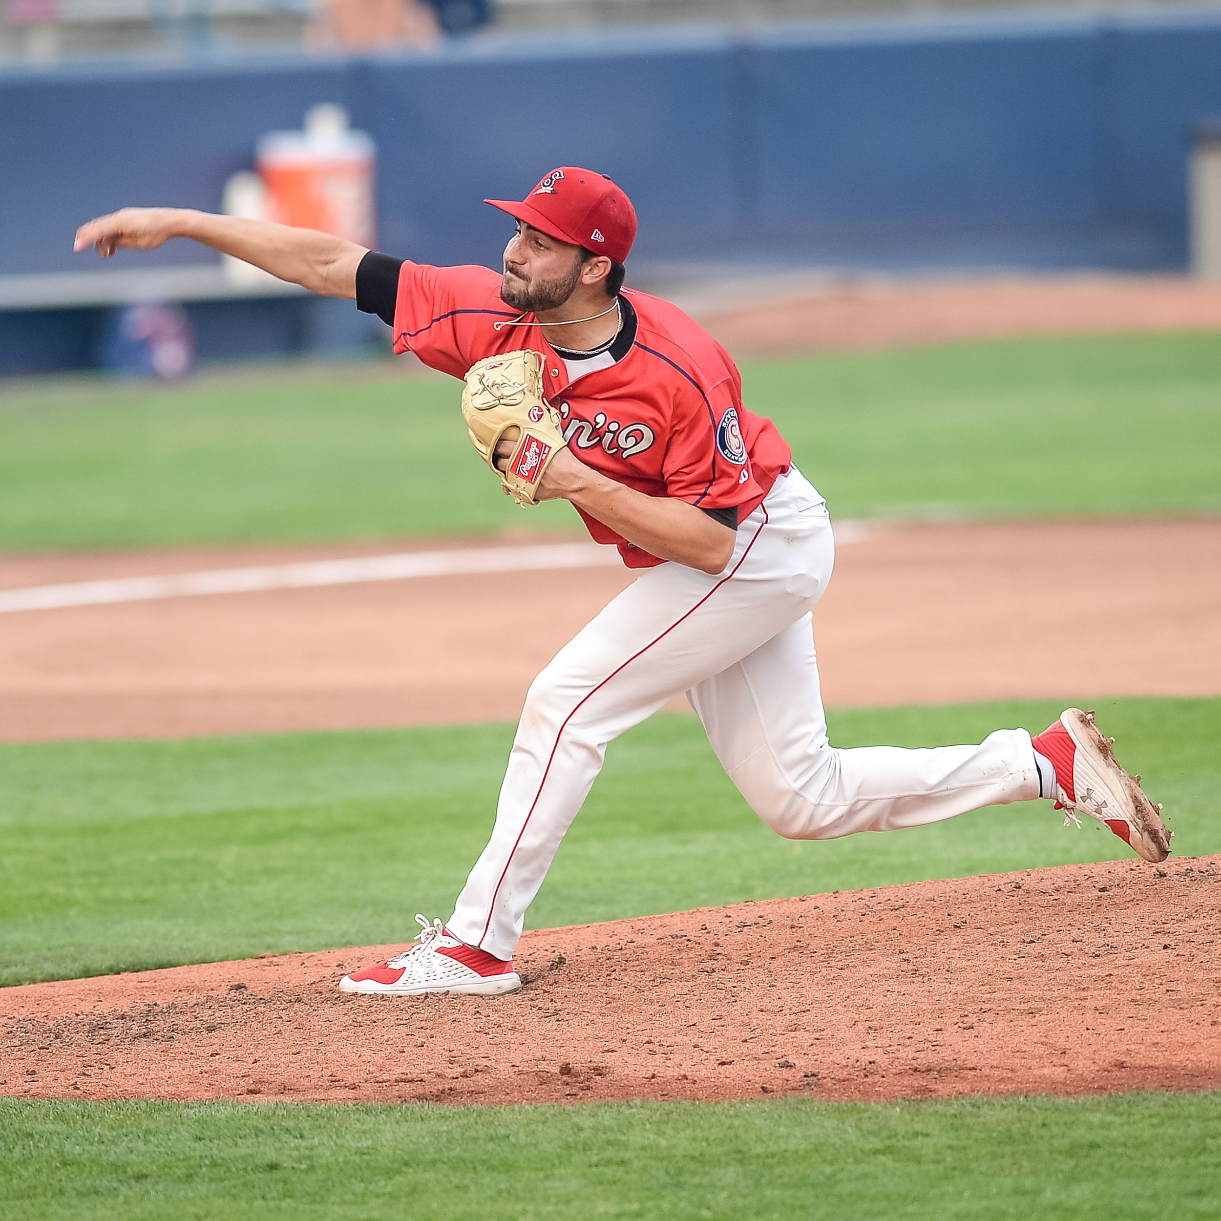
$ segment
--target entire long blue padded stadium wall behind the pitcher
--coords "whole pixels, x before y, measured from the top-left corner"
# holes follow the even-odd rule
[[[735,267],[1182,269],[1221,15],[818,23],[485,39],[440,53],[0,76],[4,277],[99,270],[74,227],[217,210],[258,138],[337,101],[379,147],[379,244],[496,263],[488,195],[587,164],[636,201],[632,280]],[[187,243],[114,266],[215,259]],[[107,271],[110,267],[106,269]],[[205,357],[359,342],[350,305],[192,305]],[[241,314],[241,325],[231,315]],[[0,311],[0,371],[84,368],[98,309]],[[380,324],[376,324],[380,326]]]

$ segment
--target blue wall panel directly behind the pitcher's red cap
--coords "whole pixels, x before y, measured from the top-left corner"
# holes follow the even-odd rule
[[[380,61],[381,244],[429,261],[497,261],[547,170],[584,165],[631,195],[639,253],[733,221],[731,56],[720,37],[636,37]],[[580,104],[574,104],[574,93]]]

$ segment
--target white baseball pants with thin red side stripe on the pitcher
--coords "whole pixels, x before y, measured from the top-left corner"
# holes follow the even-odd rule
[[[1024,729],[932,750],[828,742],[810,612],[834,558],[827,505],[792,470],[739,525],[724,571],[646,569],[578,632],[526,695],[453,935],[513,956],[607,744],[684,691],[747,803],[789,839],[918,827],[1039,796]]]

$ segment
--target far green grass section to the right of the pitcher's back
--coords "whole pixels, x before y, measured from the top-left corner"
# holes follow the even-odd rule
[[[1221,336],[957,343],[752,365],[839,516],[1221,510]]]

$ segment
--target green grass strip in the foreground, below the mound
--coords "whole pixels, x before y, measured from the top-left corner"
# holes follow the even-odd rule
[[[89,1217],[1198,1221],[1221,1095],[900,1105],[0,1100],[0,1211]]]

